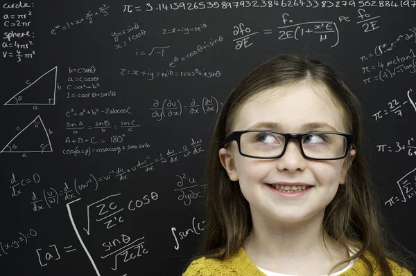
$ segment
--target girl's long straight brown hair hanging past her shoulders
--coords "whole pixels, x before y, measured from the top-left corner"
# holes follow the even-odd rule
[[[387,259],[397,262],[410,270],[404,257],[388,248],[394,240],[387,238],[387,223],[376,196],[365,160],[365,127],[361,104],[349,90],[340,75],[330,66],[314,59],[298,55],[278,55],[245,75],[229,93],[223,109],[218,114],[213,130],[207,163],[205,167],[205,212],[206,228],[202,234],[202,243],[198,248],[199,257],[224,260],[239,251],[252,230],[252,218],[248,201],[241,193],[239,185],[230,181],[220,164],[218,151],[223,140],[232,129],[239,108],[261,91],[275,87],[308,81],[326,88],[330,98],[344,115],[347,131],[354,137],[356,155],[350,162],[345,185],[340,185],[333,201],[324,212],[324,231],[338,241],[344,248],[356,247],[355,255],[338,262],[329,274],[338,266],[360,257],[365,261],[371,274],[374,268],[364,255],[372,253],[383,275],[391,276],[392,271]],[[347,157],[348,158],[348,157]],[[395,241],[395,240],[394,240]],[[397,242],[397,241],[396,241]],[[399,244],[397,242],[397,244]],[[401,248],[406,250],[403,246]],[[406,254],[414,255],[406,250]]]

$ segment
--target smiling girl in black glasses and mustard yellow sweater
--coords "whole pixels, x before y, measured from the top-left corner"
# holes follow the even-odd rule
[[[245,75],[216,121],[202,250],[183,276],[411,275],[385,247],[364,137],[329,66],[279,55]]]

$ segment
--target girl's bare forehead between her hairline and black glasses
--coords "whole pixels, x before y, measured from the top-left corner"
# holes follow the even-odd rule
[[[244,130],[259,122],[275,122],[288,133],[307,131],[347,132],[343,111],[323,86],[295,84],[261,91],[236,111],[232,130]],[[319,122],[330,127],[311,127]],[[305,127],[304,125],[308,125]],[[263,127],[261,127],[263,129]],[[270,127],[269,127],[270,129]]]

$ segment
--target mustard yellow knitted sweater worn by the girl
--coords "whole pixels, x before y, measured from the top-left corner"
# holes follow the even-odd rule
[[[365,257],[372,262],[374,266],[374,259],[369,252],[365,252]],[[401,268],[394,261],[388,260],[390,268],[392,268],[393,275],[395,276],[412,276],[410,271],[406,268]],[[345,270],[343,273],[337,276],[367,276],[370,271],[367,270],[367,266],[362,259],[358,261],[351,268]],[[375,269],[373,276],[381,275],[379,269]],[[219,261],[218,259],[207,259],[201,257],[192,261],[187,270],[182,276],[266,276],[255,264],[250,261],[243,246],[241,246],[239,252],[231,259],[225,261]]]

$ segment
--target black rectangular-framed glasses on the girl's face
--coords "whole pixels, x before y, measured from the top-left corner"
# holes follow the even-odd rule
[[[302,156],[313,160],[336,160],[347,156],[352,145],[352,134],[334,131],[314,131],[304,134],[250,129],[234,131],[225,138],[223,147],[236,141],[242,156],[260,159],[279,158],[284,155],[288,141],[296,139]]]

